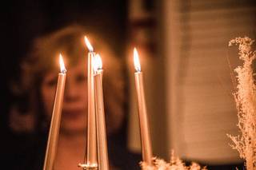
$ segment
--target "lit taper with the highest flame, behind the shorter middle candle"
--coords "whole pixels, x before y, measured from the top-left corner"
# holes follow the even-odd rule
[[[96,115],[94,103],[94,69],[92,66],[95,57],[94,48],[90,45],[89,40],[85,37],[88,53],[88,124],[87,124],[87,166],[97,167],[97,138],[96,138]]]

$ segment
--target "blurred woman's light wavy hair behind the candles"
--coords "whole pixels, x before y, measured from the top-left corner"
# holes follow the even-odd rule
[[[47,34],[34,41],[30,52],[22,61],[20,81],[14,86],[14,93],[26,97],[27,105],[22,105],[26,113],[34,115],[34,129],[42,129],[45,113],[42,107],[40,88],[46,73],[56,70],[58,74],[58,55],[62,53],[66,65],[76,65],[78,61],[87,62],[87,48],[84,36],[90,39],[95,51],[102,56],[104,76],[103,91],[106,110],[106,127],[110,133],[121,128],[125,113],[125,68],[121,58],[114,55],[110,47],[101,38],[86,34],[82,26],[68,26],[62,30]],[[68,68],[67,68],[68,69]],[[68,76],[68,75],[67,75]],[[17,88],[18,87],[18,88]],[[24,102],[22,102],[24,104]],[[21,115],[19,115],[21,116]],[[16,114],[15,117],[18,117]],[[10,117],[10,125],[15,125],[15,117]],[[20,121],[20,120],[18,120]],[[26,128],[26,127],[25,127]],[[22,128],[14,128],[22,131]]]

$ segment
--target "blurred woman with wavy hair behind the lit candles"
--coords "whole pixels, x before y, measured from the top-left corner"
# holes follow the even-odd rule
[[[104,76],[103,91],[106,111],[106,130],[110,169],[137,169],[140,156],[126,149],[126,96],[124,67],[120,58],[93,35],[86,34],[81,26],[69,26],[38,38],[29,55],[22,62],[21,80],[14,92],[26,97],[22,105],[10,114],[10,126],[15,132],[34,134],[32,143],[26,145],[18,169],[42,169],[46,142],[57,86],[58,55],[62,53],[67,76],[62,105],[62,120],[54,169],[78,169],[86,152],[87,127],[87,49],[84,36],[90,38],[94,49],[102,55]],[[14,160],[15,161],[15,160]]]

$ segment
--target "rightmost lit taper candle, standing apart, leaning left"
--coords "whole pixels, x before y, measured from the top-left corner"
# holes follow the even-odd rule
[[[140,133],[141,133],[141,141],[142,141],[142,160],[146,162],[146,164],[152,164],[152,148],[150,141],[150,132],[149,125],[147,121],[146,115],[146,103],[145,103],[145,95],[144,95],[144,87],[143,87],[143,74],[141,72],[141,65],[138,59],[137,49],[134,48],[134,67],[136,70],[135,75],[135,85],[137,91],[138,98],[138,117],[139,117],[139,125],[140,125]]]

